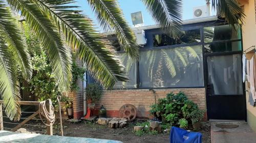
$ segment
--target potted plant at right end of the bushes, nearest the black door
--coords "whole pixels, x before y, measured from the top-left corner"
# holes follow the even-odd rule
[[[192,125],[195,130],[200,129],[200,125],[201,125],[200,121],[203,119],[203,117],[204,117],[204,110],[201,110],[199,108],[194,109],[189,114],[189,118],[192,121]]]

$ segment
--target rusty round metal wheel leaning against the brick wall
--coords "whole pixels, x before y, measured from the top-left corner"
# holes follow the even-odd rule
[[[119,109],[119,117],[125,118],[129,122],[133,121],[136,118],[137,110],[136,107],[132,104],[124,104]]]

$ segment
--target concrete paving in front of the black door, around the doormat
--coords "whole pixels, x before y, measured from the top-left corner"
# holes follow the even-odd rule
[[[219,128],[216,124],[236,124],[237,128]],[[211,122],[210,136],[212,143],[255,143],[256,133],[247,123]]]

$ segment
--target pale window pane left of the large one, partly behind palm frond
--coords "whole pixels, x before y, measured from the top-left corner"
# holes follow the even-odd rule
[[[137,88],[137,66],[136,62],[129,58],[127,54],[119,54],[119,58],[121,59],[121,62],[123,63],[125,67],[125,76],[129,78],[129,81],[122,82],[118,81],[114,88],[115,89],[133,89]]]

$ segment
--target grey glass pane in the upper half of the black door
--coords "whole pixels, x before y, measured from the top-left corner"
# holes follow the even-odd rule
[[[243,94],[240,54],[208,56],[207,65],[211,94]]]

